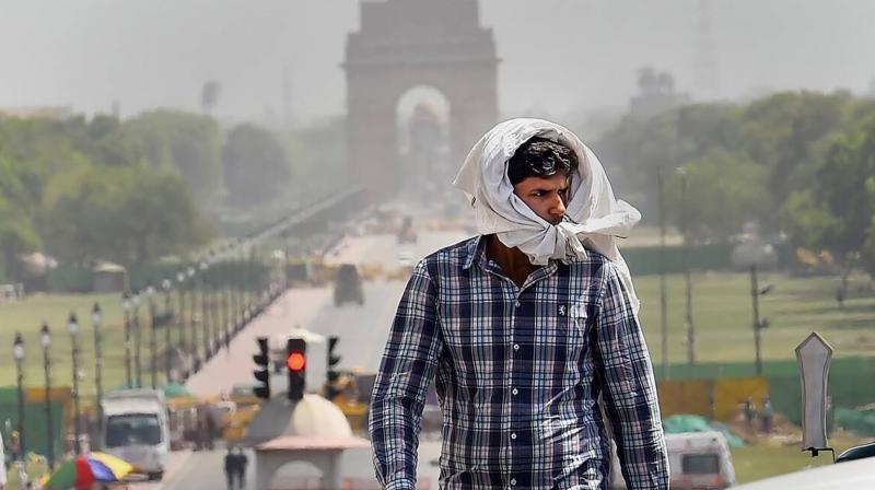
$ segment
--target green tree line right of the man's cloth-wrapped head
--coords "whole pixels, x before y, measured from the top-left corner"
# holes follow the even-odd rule
[[[875,101],[801,91],[693,104],[627,117],[595,147],[620,195],[652,223],[657,172],[677,225],[685,179],[692,242],[732,242],[752,221],[875,272]]]

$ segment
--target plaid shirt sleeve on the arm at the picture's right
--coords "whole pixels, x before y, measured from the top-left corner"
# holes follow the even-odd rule
[[[620,468],[629,490],[667,489],[668,453],[648,346],[617,269],[611,262],[605,268],[595,364]]]

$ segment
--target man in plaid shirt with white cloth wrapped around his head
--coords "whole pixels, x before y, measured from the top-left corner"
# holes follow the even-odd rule
[[[537,119],[490,130],[455,185],[480,235],[412,271],[372,398],[377,480],[416,488],[436,376],[442,489],[607,489],[608,430],[629,489],[668,488],[638,300],[615,244],[638,211],[615,200],[571,131]]]

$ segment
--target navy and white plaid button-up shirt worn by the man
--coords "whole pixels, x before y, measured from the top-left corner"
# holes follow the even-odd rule
[[[629,489],[667,489],[655,382],[614,265],[590,252],[536,269],[522,288],[485,237],[412,272],[371,405],[377,480],[415,489],[419,422],[436,375],[443,489],[607,489],[603,397]]]

